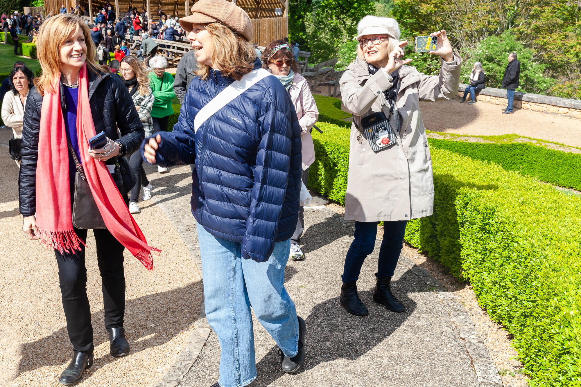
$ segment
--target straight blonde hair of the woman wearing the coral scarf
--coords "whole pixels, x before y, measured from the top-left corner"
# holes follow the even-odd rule
[[[40,62],[42,74],[34,80],[34,84],[40,95],[44,95],[46,92],[58,92],[53,88],[53,82],[60,73],[60,48],[77,28],[83,31],[87,45],[87,55],[85,55],[87,70],[102,74],[102,70],[95,60],[96,50],[95,44],[91,40],[91,30],[84,20],[72,13],[61,13],[49,17],[42,23],[36,41],[38,62]]]

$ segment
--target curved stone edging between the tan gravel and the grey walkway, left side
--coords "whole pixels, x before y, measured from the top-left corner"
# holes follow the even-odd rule
[[[173,208],[159,198],[159,196],[152,196],[152,200],[157,206],[162,209],[171,223],[177,228],[182,240],[186,244],[192,259],[196,264],[196,268],[203,279],[202,260],[200,259],[199,248],[197,245],[198,238],[193,234],[192,230],[185,224],[180,217],[178,217]],[[198,359],[202,348],[206,345],[211,328],[206,319],[204,303],[202,302],[202,311],[198,317],[198,321],[194,324],[192,334],[189,336],[188,342],[184,349],[178,354],[177,359],[170,369],[163,375],[162,380],[157,382],[154,387],[176,387],[184,379],[185,374],[192,368],[193,363]]]

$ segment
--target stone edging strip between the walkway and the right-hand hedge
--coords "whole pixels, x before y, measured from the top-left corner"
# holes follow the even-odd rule
[[[307,209],[307,207],[305,208]],[[329,214],[334,213],[331,209],[326,211]],[[343,224],[353,232],[355,231],[355,225],[349,220],[342,218]],[[406,264],[405,261],[401,261],[398,264]],[[437,298],[439,298],[448,314],[450,315],[450,320],[456,326],[458,336],[464,341],[464,346],[466,347],[466,352],[472,360],[472,367],[476,371],[478,376],[478,382],[480,387],[503,387],[502,379],[498,375],[498,370],[490,352],[482,338],[476,331],[476,325],[472,318],[469,316],[468,311],[465,309],[464,305],[458,300],[458,297],[453,293],[447,291],[446,287],[442,282],[438,281],[433,275],[425,268],[416,266],[408,267],[415,275],[420,277],[426,285],[433,288],[436,293]]]

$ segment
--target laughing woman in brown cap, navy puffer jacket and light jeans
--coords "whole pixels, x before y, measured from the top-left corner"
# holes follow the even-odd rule
[[[191,206],[206,316],[221,346],[214,386],[245,386],[257,376],[251,306],[280,348],[282,370],[304,362],[306,324],[284,287],[299,212],[301,127],[285,87],[261,69],[242,8],[200,0],[180,24],[199,69],[173,131],[146,138],[141,152],[150,164],[195,164]],[[264,78],[200,121],[207,114],[200,109],[221,91],[259,74]]]

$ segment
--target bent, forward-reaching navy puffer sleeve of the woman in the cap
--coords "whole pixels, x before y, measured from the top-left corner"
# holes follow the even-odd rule
[[[188,92],[188,94],[191,94]],[[188,95],[186,96],[188,98]],[[191,96],[190,96],[191,98]],[[174,125],[173,132],[156,132],[153,136],[145,138],[141,143],[141,157],[145,162],[145,144],[149,139],[160,135],[162,141],[156,152],[156,164],[162,167],[171,167],[181,164],[193,164],[196,161],[196,138],[193,132],[193,117],[191,103],[184,103],[180,108],[180,118]]]

